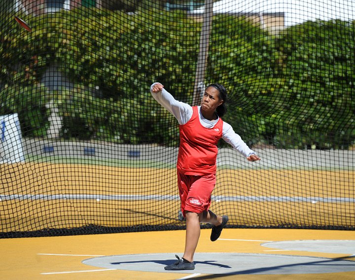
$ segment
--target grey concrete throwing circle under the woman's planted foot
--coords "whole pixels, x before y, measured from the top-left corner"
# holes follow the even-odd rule
[[[196,253],[195,270],[164,270],[165,266],[176,260],[175,254],[161,253],[96,257],[82,263],[117,270],[185,274],[320,274],[355,271],[355,262],[348,260],[245,253]]]

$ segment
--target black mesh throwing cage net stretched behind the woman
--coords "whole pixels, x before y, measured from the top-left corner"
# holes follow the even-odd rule
[[[354,230],[354,19],[346,0],[1,1],[0,236],[183,228],[155,81],[191,105],[227,88],[261,158],[219,143],[229,227]]]

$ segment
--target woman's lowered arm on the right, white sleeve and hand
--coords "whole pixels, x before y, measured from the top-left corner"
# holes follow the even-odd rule
[[[260,160],[258,155],[256,155],[256,153],[248,147],[242,138],[237,133],[235,133],[233,127],[225,121],[223,121],[222,139],[230,144],[235,150],[240,152],[243,156],[245,156],[247,160]]]

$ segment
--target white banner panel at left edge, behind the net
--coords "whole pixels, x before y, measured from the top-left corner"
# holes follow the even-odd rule
[[[0,163],[25,161],[17,113],[0,116]]]

